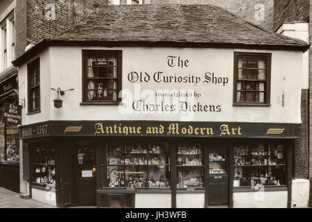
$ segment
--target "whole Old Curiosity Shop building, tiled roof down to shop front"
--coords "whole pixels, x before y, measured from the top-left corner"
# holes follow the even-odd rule
[[[58,207],[292,207],[308,48],[210,5],[101,8],[13,62],[29,193]]]

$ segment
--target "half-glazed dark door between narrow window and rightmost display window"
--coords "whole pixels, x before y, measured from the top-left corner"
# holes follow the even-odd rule
[[[228,206],[228,148],[208,151],[208,206]]]

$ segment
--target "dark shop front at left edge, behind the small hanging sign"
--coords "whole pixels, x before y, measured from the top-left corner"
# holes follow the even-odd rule
[[[20,131],[22,108],[18,100],[17,69],[0,83],[0,187],[20,192]]]

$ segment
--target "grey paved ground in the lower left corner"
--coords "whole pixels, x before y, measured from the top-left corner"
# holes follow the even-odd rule
[[[0,208],[55,208],[45,203],[33,199],[22,199],[17,194],[8,189],[0,188]]]

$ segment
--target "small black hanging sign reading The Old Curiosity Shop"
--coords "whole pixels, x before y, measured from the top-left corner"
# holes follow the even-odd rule
[[[22,105],[4,103],[3,122],[22,125]]]

